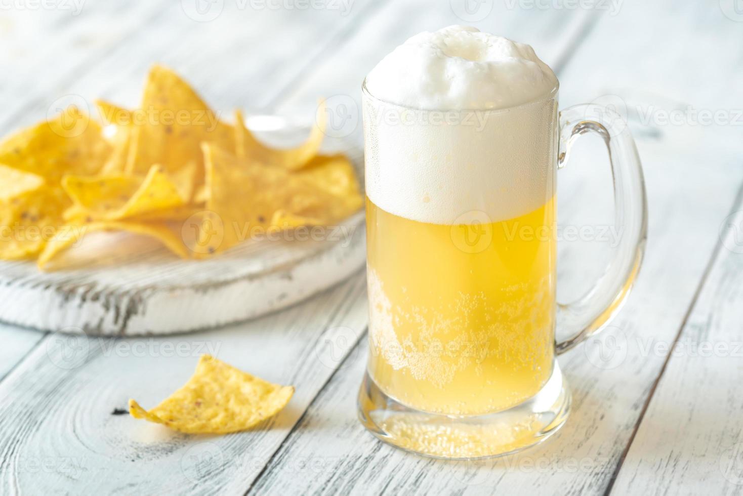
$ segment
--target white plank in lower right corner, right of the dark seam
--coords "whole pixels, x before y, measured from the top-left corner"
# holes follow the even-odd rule
[[[743,494],[743,203],[718,225],[713,268],[681,335],[641,343],[668,364],[614,483],[617,494]]]

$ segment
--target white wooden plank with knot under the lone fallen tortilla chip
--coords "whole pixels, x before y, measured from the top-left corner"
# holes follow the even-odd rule
[[[210,333],[126,340],[48,334],[0,384],[0,492],[242,493],[365,326],[359,273],[304,304]],[[112,414],[126,411],[130,397],[156,405],[186,382],[201,353],[295,385],[296,394],[259,428],[221,437]]]

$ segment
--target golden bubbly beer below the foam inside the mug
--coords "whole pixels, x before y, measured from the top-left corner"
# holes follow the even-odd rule
[[[441,225],[366,202],[369,375],[422,411],[478,415],[533,397],[554,359],[555,202]]]

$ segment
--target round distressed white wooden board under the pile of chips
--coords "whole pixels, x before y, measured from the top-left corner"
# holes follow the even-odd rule
[[[275,141],[306,133],[284,130]],[[327,141],[333,141],[328,151],[351,157],[363,183],[360,147]],[[148,238],[93,233],[63,255],[69,259],[62,270],[43,273],[34,261],[0,261],[0,321],[136,336],[251,319],[325,290],[363,266],[363,212],[321,235],[307,233],[301,239],[290,233],[278,241],[248,241],[201,261],[179,260]]]

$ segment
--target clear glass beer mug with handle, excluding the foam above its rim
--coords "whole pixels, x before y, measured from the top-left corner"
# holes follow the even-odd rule
[[[490,457],[545,440],[570,392],[556,356],[596,333],[643,255],[640,160],[600,105],[557,111],[557,85],[496,110],[420,110],[363,85],[369,362],[363,425],[394,446]],[[606,273],[556,301],[555,177],[574,140],[609,149],[622,233]],[[485,165],[483,166],[485,161]],[[556,328],[566,339],[556,341]]]

